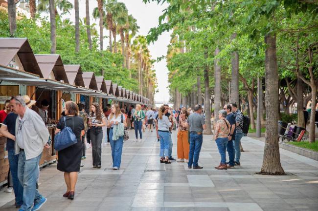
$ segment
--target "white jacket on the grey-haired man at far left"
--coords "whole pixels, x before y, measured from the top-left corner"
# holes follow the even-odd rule
[[[41,116],[26,107],[23,115],[23,123],[19,129],[19,118],[16,120],[16,134],[23,137],[25,158],[32,159],[39,156],[45,143],[48,141],[49,133]],[[21,134],[22,133],[22,134]],[[19,135],[16,135],[19,137]],[[15,141],[15,154],[20,153],[20,147]]]

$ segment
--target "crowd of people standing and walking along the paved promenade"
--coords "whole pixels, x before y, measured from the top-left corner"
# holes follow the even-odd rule
[[[16,196],[16,207],[20,211],[37,211],[46,202],[46,198],[37,190],[39,180],[39,161],[43,148],[51,147],[51,137],[45,126],[48,103],[42,102],[37,109],[36,101],[29,96],[14,96],[5,102],[0,112],[2,126],[0,133],[7,137],[7,150],[10,165],[11,182]],[[135,130],[134,142],[142,142],[142,135],[156,130],[160,142],[160,163],[173,161],[185,162],[188,168],[202,169],[199,157],[206,129],[205,117],[201,105],[191,108],[172,110],[164,104],[159,108],[142,107],[137,104],[120,108],[118,104],[108,104],[102,110],[98,103],[92,103],[88,113],[82,103],[67,101],[59,119],[55,134],[70,128],[77,142],[58,151],[57,170],[64,172],[66,192],[63,197],[74,199],[81,160],[86,159],[86,142],[91,143],[92,167],[102,166],[102,140],[111,145],[113,170],[119,170],[125,130]],[[105,132],[103,127],[107,127]],[[221,155],[218,170],[240,165],[240,140],[243,136],[243,114],[235,103],[225,105],[219,112],[215,125],[216,144]],[[177,159],[172,156],[172,131],[177,133]],[[226,160],[228,152],[229,162]],[[10,189],[10,187],[8,188]]]

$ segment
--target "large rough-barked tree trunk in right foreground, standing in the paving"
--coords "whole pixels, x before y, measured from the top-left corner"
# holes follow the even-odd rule
[[[280,163],[278,145],[278,72],[276,58],[276,36],[265,36],[265,104],[266,132],[261,173],[284,174]]]

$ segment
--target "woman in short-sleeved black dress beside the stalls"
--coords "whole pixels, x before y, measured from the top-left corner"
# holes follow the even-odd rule
[[[81,137],[84,134],[84,121],[78,114],[79,111],[76,103],[67,101],[65,104],[66,125],[72,129],[76,136],[77,143],[58,152],[59,161],[57,163],[57,169],[64,172],[67,192],[63,196],[68,197],[68,199],[74,199],[77,174],[80,171],[83,151]],[[62,116],[56,126],[55,134],[59,133],[64,127],[65,121]]]

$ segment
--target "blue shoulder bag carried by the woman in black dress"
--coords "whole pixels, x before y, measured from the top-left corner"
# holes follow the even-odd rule
[[[64,150],[69,146],[77,143],[77,139],[72,129],[66,125],[66,118],[63,116],[65,126],[54,136],[54,149],[57,151]]]

